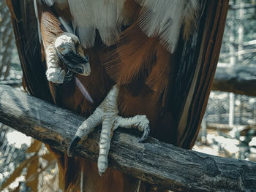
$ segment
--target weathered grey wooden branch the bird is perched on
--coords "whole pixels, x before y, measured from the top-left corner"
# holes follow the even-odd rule
[[[0,121],[51,147],[66,152],[84,118],[27,93],[0,85]],[[221,158],[174,147],[118,129],[111,142],[109,166],[173,191],[254,191],[256,163]],[[78,154],[97,161],[99,128],[78,147]]]

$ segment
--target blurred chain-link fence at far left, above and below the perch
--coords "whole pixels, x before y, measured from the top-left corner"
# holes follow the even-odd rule
[[[10,12],[6,1],[0,1],[0,85],[20,85],[21,78]],[[28,145],[24,142],[17,146],[15,142],[7,139],[12,131],[12,128],[0,123],[0,186],[26,158],[25,150]]]

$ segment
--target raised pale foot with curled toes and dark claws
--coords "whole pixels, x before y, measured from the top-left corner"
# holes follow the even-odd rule
[[[61,34],[45,53],[48,66],[46,77],[50,82],[69,82],[72,80],[72,72],[85,76],[91,73],[88,55],[84,54],[83,47],[74,34]],[[67,72],[61,68],[61,61],[67,65]]]

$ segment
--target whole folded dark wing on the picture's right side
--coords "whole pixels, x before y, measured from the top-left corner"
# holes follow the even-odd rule
[[[198,29],[181,46],[172,101],[177,115],[176,145],[192,148],[203,119],[227,17],[228,1],[202,1]],[[196,38],[195,38],[196,37]],[[179,109],[179,110],[178,110]]]

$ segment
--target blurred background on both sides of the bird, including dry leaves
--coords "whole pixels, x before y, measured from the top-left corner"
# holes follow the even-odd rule
[[[256,0],[230,0],[217,73],[193,150],[256,161]],[[0,85],[21,88],[10,13],[0,1]],[[0,123],[4,191],[59,191],[56,162],[42,143]],[[11,184],[11,185],[10,185]]]

